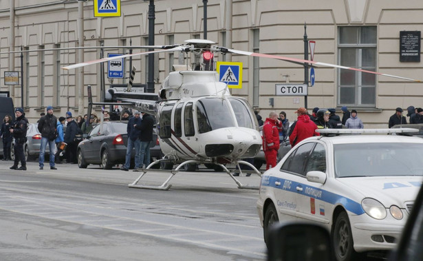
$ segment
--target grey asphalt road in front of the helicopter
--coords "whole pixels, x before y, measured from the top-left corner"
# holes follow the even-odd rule
[[[227,174],[180,172],[171,190],[155,191],[129,189],[133,171],[11,165],[0,161],[0,260],[265,260],[258,191]]]

